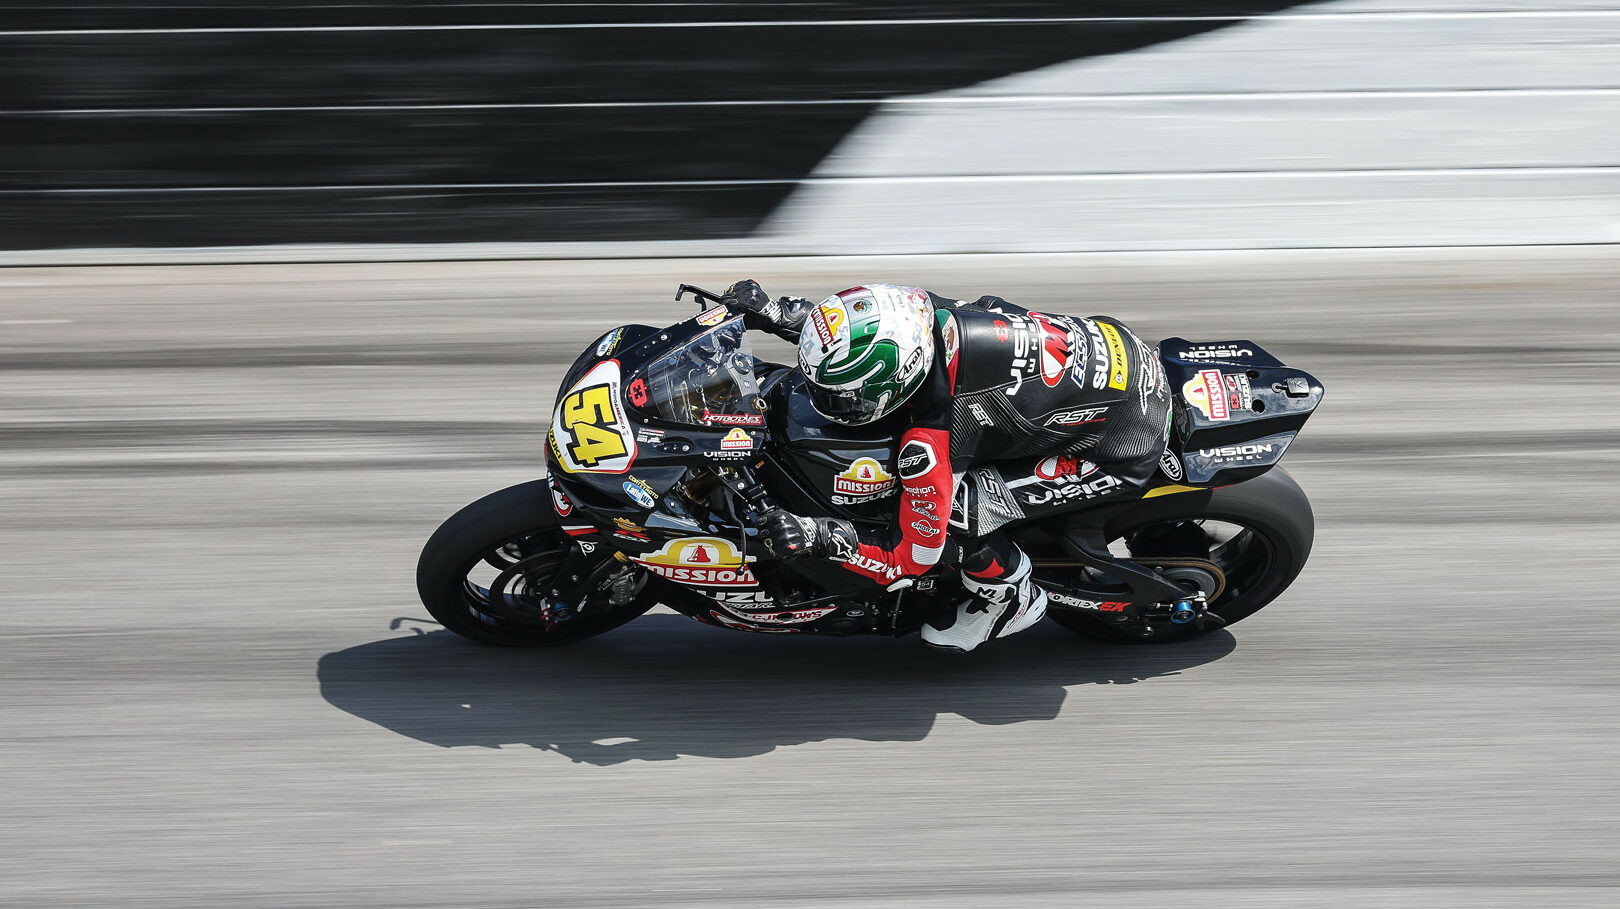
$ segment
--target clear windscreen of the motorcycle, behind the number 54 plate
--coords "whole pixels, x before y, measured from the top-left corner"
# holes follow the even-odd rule
[[[650,363],[646,402],[632,403],[671,423],[760,426],[765,415],[753,371],[753,347],[737,316]]]

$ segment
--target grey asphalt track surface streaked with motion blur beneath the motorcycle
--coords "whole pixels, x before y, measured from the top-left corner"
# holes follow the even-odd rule
[[[1327,400],[1283,600],[949,659],[424,619],[562,365],[679,280],[1249,337]],[[1614,906],[1620,254],[0,272],[6,906]]]

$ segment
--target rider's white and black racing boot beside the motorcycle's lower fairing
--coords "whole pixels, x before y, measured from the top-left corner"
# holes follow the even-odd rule
[[[1030,561],[1013,548],[1008,565],[988,549],[962,567],[962,587],[972,595],[956,608],[948,625],[930,619],[922,642],[936,650],[967,653],[993,637],[1017,634],[1047,614],[1047,591],[1030,578]]]

